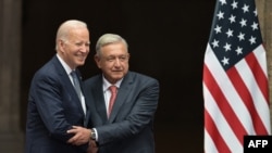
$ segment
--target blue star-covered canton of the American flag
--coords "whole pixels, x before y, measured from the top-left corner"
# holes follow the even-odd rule
[[[248,0],[218,0],[209,38],[225,71],[262,43],[256,5]]]

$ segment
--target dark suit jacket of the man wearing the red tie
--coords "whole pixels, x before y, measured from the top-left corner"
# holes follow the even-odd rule
[[[159,100],[158,80],[128,72],[107,117],[102,75],[84,82],[89,103],[89,127],[98,132],[99,153],[154,153],[153,116]]]

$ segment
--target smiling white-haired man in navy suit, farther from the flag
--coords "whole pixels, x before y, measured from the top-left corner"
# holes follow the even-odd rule
[[[86,153],[90,130],[88,106],[83,90],[76,89],[81,79],[77,66],[84,65],[89,53],[89,31],[81,21],[66,21],[58,29],[57,54],[36,72],[32,80],[26,123],[25,153]],[[78,93],[77,93],[78,91]],[[74,127],[77,126],[77,127]],[[76,128],[79,146],[67,143]],[[74,136],[75,137],[75,136]],[[73,138],[74,138],[73,137]]]

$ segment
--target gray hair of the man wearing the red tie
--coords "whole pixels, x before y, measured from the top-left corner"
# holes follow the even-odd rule
[[[100,50],[102,47],[107,46],[107,44],[111,44],[111,43],[116,43],[116,42],[122,42],[125,44],[125,48],[126,50],[128,49],[128,44],[126,42],[126,40],[116,35],[116,34],[104,34],[102,35],[98,41],[97,41],[97,44],[96,44],[96,53],[97,55],[100,55]]]

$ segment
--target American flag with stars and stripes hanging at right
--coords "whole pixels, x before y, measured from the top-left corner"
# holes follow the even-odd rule
[[[243,153],[270,135],[267,56],[255,0],[218,0],[205,53],[205,152]]]

